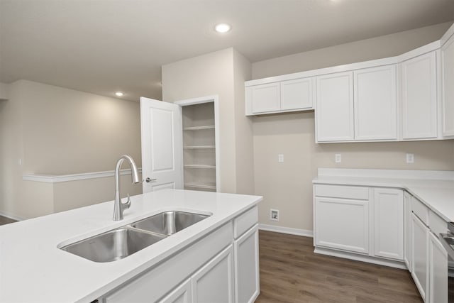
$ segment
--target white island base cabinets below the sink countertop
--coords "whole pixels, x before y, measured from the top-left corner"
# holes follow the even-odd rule
[[[99,302],[254,302],[260,292],[258,256],[258,207],[254,206]]]

